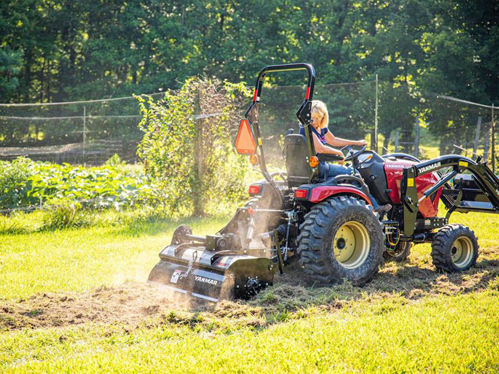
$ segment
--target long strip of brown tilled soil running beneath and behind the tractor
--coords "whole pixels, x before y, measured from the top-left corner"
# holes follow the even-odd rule
[[[488,252],[488,253],[487,253]],[[429,295],[455,295],[498,287],[499,248],[489,249],[477,265],[464,273],[442,274],[425,257],[402,264],[386,263],[364,287],[349,284],[317,288],[300,279],[297,264],[275,276],[275,284],[250,301],[222,301],[217,305],[167,293],[146,283],[126,282],[87,292],[43,293],[28,299],[0,301],[0,331],[50,328],[83,323],[121,324],[127,328],[158,324],[197,324],[231,320],[261,327],[289,312],[315,305],[320,310],[344,308],[350,300],[390,298],[410,302]],[[306,285],[306,286],[305,286]]]

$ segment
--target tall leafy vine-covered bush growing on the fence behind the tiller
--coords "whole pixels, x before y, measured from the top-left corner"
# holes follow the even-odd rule
[[[171,215],[216,214],[243,198],[249,164],[233,140],[248,96],[242,84],[190,78],[159,101],[137,97],[144,116],[137,154]]]

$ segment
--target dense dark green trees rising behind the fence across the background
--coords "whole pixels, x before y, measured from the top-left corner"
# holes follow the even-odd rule
[[[317,84],[369,81],[377,74],[383,82],[379,116],[385,136],[412,126],[421,114],[433,121],[431,131],[444,134],[459,121],[476,119],[469,111],[454,113],[452,106],[442,105],[415,113],[417,92],[499,104],[498,4],[3,0],[0,102],[166,91],[195,75],[252,85],[265,65],[309,62],[317,70]],[[272,79],[302,83],[288,75]],[[453,113],[452,118],[446,112],[439,120],[439,110]]]

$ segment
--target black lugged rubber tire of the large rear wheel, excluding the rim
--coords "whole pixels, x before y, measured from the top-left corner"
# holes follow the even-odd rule
[[[366,259],[354,269],[343,267],[332,251],[336,231],[348,221],[362,223],[370,238]],[[347,279],[361,286],[378,272],[384,251],[385,235],[378,215],[371,205],[355,197],[338,196],[314,205],[300,225],[297,252],[310,283],[328,285]]]

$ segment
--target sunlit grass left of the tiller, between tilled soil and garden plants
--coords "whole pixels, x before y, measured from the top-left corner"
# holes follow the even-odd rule
[[[182,223],[195,232],[208,233],[222,228],[226,221],[222,217]],[[158,220],[0,235],[0,300],[36,292],[81,291],[125,279],[143,281],[179,224]]]

